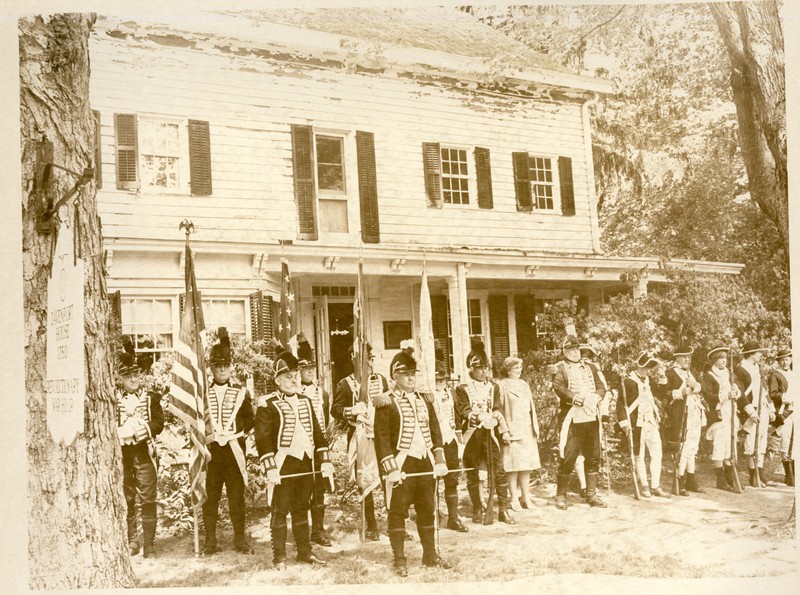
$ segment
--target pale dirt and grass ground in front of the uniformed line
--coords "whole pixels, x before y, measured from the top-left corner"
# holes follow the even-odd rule
[[[232,551],[229,527],[221,528],[222,552],[195,558],[192,536],[162,539],[155,559],[133,559],[139,587],[214,587],[260,585],[340,585],[357,583],[441,583],[455,581],[530,581],[542,577],[629,576],[695,579],[778,577],[795,575],[798,552],[794,522],[787,522],[794,489],[783,484],[734,494],[713,487],[711,469],[699,475],[704,494],[636,501],[624,486],[605,496],[607,509],[591,509],[570,495],[566,512],[553,506],[553,484],[533,488],[536,507],[516,513],[518,524],[476,525],[464,519],[469,533],[442,529],[440,551],[454,564],[449,571],[421,566],[414,525],[407,542],[409,577],[391,570],[386,535],[379,542],[359,543],[353,518],[332,506],[326,524],[334,545],[315,546],[328,565],[310,568],[291,562],[272,567],[269,517],[250,518],[253,556]],[[742,473],[742,483],[746,484]],[[775,479],[780,480],[778,476]],[[665,483],[669,476],[664,478]],[[470,510],[462,480],[461,512]],[[624,493],[623,493],[624,492]],[[376,497],[376,504],[380,497]],[[444,510],[444,502],[442,502]],[[249,515],[256,516],[256,515]],[[379,521],[385,528],[385,520]],[[291,536],[291,532],[290,532]],[[743,583],[740,583],[743,584]],[[797,583],[794,583],[797,588]],[[798,588],[800,591],[800,588]],[[798,592],[795,591],[795,592]]]

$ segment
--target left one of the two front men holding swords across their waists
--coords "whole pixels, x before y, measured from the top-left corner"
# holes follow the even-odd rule
[[[272,497],[273,563],[286,568],[286,517],[292,515],[297,561],[324,565],[311,550],[308,512],[315,474],[333,481],[328,442],[311,399],[300,393],[297,358],[279,353],[272,363],[277,390],[259,399],[256,410],[256,448],[267,473],[267,500]]]

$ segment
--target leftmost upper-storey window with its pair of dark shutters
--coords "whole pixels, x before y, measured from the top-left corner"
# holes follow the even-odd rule
[[[118,189],[211,194],[208,122],[114,114],[114,140]]]

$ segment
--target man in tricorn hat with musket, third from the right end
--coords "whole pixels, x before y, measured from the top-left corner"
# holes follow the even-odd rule
[[[712,348],[707,355],[711,369],[703,375],[703,397],[708,403],[708,429],[706,439],[711,440],[711,462],[717,474],[717,488],[733,491],[736,470],[732,462],[732,448],[736,444],[731,442],[739,430],[739,422],[732,415],[731,408],[736,407],[739,389],[736,383],[731,385],[730,372],[728,371],[728,353],[730,349],[724,346]],[[731,428],[731,423],[735,427]]]

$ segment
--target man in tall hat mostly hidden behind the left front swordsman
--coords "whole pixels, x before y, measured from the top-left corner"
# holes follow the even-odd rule
[[[317,364],[314,350],[305,335],[298,337],[297,360],[300,369],[300,392],[311,399],[314,414],[327,439],[330,399],[328,393],[317,384]],[[314,476],[314,496],[311,500],[311,541],[318,545],[330,546],[331,539],[325,531],[325,488],[327,480],[322,475]]]

